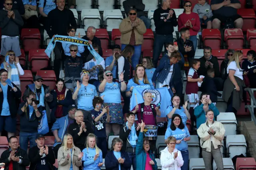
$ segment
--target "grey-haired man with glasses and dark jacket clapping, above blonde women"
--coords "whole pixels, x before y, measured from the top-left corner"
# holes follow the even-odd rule
[[[86,137],[94,131],[89,121],[83,121],[84,115],[82,111],[76,111],[75,120],[76,122],[68,127],[68,134],[73,136],[74,145],[80,148],[80,150],[83,150],[85,148]]]

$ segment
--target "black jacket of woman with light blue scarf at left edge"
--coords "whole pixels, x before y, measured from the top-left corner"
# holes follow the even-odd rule
[[[17,104],[16,104],[16,100],[21,97],[21,91],[16,85],[14,85],[14,83],[12,83],[12,85],[14,87],[16,87],[17,91],[14,92],[12,90],[12,87],[10,87],[8,85],[7,101],[8,101],[8,104],[9,104],[11,117],[14,118],[14,117],[16,117],[17,112],[18,112],[18,110],[17,110],[18,107],[17,107]],[[1,92],[0,93],[0,115],[2,113],[3,102],[4,102],[4,93]]]

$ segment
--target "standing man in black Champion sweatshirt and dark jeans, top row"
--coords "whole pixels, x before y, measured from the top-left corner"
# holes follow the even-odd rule
[[[164,43],[173,42],[173,27],[178,26],[176,14],[174,10],[170,9],[170,4],[170,0],[163,0],[162,7],[154,11],[153,19],[156,26],[156,34],[154,40],[153,63],[155,68],[157,67],[158,58]]]

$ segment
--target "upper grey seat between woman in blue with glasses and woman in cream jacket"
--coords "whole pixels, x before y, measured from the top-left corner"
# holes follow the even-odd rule
[[[200,154],[200,143],[197,135],[190,135],[190,140],[187,141],[188,144],[188,157],[189,158],[199,158]]]

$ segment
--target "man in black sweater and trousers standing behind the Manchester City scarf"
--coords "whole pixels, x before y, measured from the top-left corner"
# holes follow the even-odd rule
[[[77,27],[73,12],[64,8],[65,0],[57,0],[57,6],[58,7],[51,10],[47,16],[45,30],[50,38],[52,38],[54,35],[68,36],[68,27],[70,25],[75,29]],[[64,60],[64,58],[62,58],[62,51],[62,44],[57,42],[54,48],[54,72],[56,77],[59,77],[60,63]]]

